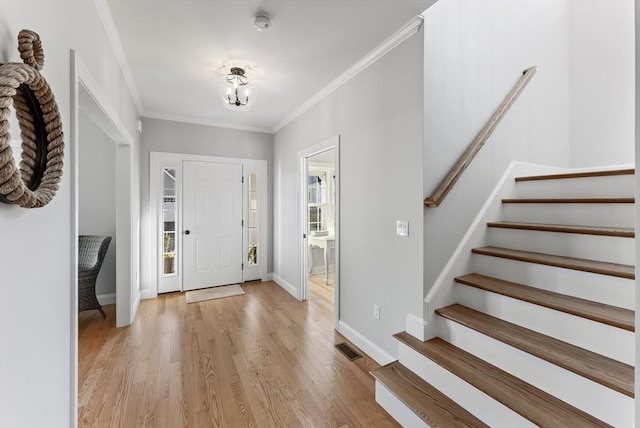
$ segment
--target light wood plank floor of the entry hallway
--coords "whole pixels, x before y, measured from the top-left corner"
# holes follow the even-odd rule
[[[79,316],[80,427],[398,426],[375,403],[368,357],[334,344],[333,290],[309,281],[298,302],[273,282],[187,305],[174,293]]]

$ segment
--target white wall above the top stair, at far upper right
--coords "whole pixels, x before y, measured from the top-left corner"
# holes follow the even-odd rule
[[[570,6],[570,166],[633,163],[633,0]]]

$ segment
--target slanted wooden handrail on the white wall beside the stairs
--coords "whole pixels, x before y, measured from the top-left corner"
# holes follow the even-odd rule
[[[442,203],[442,200],[447,193],[453,188],[453,185],[456,184],[464,170],[471,163],[473,158],[476,156],[480,148],[487,141],[493,130],[496,129],[498,123],[502,120],[504,115],[507,113],[509,108],[513,105],[513,103],[518,99],[518,96],[524,90],[529,80],[536,74],[536,67],[533,66],[531,68],[527,68],[522,72],[522,77],[515,84],[511,92],[507,94],[502,104],[498,107],[498,109],[493,113],[487,124],[482,128],[480,133],[473,139],[467,150],[460,156],[458,162],[451,168],[447,176],[440,182],[435,192],[431,194],[431,196],[427,196],[424,200],[424,204],[428,207],[437,207]]]

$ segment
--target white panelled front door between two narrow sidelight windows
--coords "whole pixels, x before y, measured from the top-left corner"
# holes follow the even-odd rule
[[[182,289],[242,282],[242,165],[183,166]]]

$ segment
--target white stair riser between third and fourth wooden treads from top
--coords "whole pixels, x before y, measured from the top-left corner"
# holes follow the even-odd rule
[[[490,227],[489,245],[558,256],[577,257],[627,265],[635,264],[632,238],[541,232]]]

